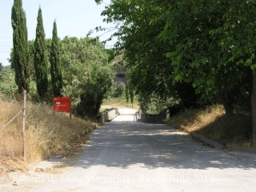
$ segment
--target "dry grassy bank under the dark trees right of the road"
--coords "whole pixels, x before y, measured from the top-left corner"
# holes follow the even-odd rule
[[[210,106],[203,110],[186,110],[167,122],[176,129],[196,132],[206,138],[221,142],[226,147],[255,147],[252,144],[250,115],[225,115],[222,106]]]

